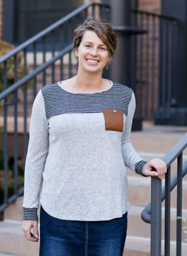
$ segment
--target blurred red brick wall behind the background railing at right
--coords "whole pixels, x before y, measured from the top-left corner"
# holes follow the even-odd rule
[[[161,0],[138,0],[138,10],[149,13],[160,13]],[[142,16],[142,26],[140,26],[140,15],[138,15],[137,25],[146,29],[147,19]],[[153,113],[157,109],[158,93],[158,64],[159,64],[159,19],[150,16],[148,35],[139,36],[136,40],[136,112],[146,119],[152,119]],[[141,41],[142,40],[142,41]],[[142,46],[140,47],[142,43]],[[154,49],[153,49],[154,47]],[[148,55],[147,55],[148,53]]]

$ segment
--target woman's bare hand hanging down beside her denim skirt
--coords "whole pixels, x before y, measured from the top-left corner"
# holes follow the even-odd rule
[[[31,229],[33,228],[33,236],[31,234]],[[31,242],[38,242],[39,233],[37,229],[37,220],[24,220],[22,224],[22,231],[27,240]]]

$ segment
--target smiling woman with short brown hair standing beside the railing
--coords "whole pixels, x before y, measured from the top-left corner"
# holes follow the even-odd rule
[[[130,207],[125,165],[158,178],[167,170],[131,145],[133,91],[102,78],[116,43],[110,24],[83,22],[73,36],[77,75],[44,86],[33,103],[22,230],[38,242],[40,201],[40,256],[122,256]]]

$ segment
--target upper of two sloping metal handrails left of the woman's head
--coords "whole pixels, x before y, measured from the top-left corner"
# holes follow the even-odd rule
[[[23,49],[28,47],[31,43],[34,43],[35,41],[45,37],[47,34],[52,32],[53,30],[55,30],[59,26],[62,26],[62,24],[64,24],[65,22],[67,22],[68,20],[75,17],[77,14],[81,13],[82,11],[86,10],[88,7],[91,7],[91,6],[102,6],[102,7],[110,8],[110,5],[107,5],[107,4],[104,4],[104,3],[92,3],[91,2],[91,3],[87,3],[83,6],[75,9],[75,11],[72,11],[70,14],[67,14],[66,16],[61,18],[60,20],[54,22],[51,26],[45,28],[45,30],[39,32],[38,34],[36,34],[32,38],[28,39],[27,41],[25,41],[24,43],[22,43],[21,45],[19,45],[18,47],[16,47],[15,49],[10,51],[9,53],[7,53],[5,56],[1,57],[0,64],[7,61],[7,59],[9,59],[10,57],[13,57],[17,53],[19,53],[20,51],[22,51]]]

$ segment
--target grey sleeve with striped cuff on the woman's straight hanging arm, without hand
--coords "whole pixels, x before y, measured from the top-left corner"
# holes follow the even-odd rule
[[[49,128],[41,90],[37,93],[30,120],[30,141],[25,165],[23,220],[38,220],[39,190],[49,151]]]

